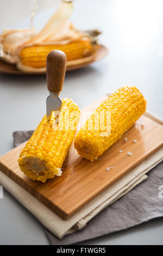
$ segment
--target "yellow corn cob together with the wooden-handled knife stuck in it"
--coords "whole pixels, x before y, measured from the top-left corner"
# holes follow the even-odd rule
[[[30,179],[45,182],[61,175],[61,167],[73,142],[80,111],[71,99],[59,99],[66,72],[64,52],[47,57],[47,114],[20,154],[18,164]]]

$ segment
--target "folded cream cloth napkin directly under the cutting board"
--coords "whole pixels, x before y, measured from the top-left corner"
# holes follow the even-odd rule
[[[163,125],[163,120],[157,118],[155,115],[149,112],[146,112],[145,115]],[[49,210],[45,205],[39,202],[39,200],[2,172],[0,172],[0,184],[25,208],[27,208],[48,230],[59,237],[59,239],[62,239],[65,235],[84,228],[86,223],[99,212],[115,202],[118,198],[124,196],[124,194],[128,193],[137,184],[147,179],[147,175],[145,174],[162,160],[163,148],[156,151],[156,153],[148,157],[148,159],[139,164],[139,166],[124,175],[123,178],[110,186],[66,221],[54,214],[54,212]]]

